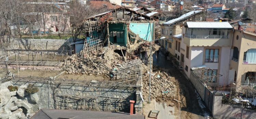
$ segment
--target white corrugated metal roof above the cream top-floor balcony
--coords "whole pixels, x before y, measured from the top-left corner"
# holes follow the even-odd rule
[[[228,22],[186,22],[189,28],[233,28]]]

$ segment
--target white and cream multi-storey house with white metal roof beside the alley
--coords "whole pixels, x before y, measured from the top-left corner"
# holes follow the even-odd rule
[[[205,75],[220,76],[212,80],[213,84],[230,84],[232,35],[233,27],[228,22],[185,22],[181,38],[175,40],[175,55],[180,57],[185,74],[190,77],[192,67],[206,66],[209,70]]]

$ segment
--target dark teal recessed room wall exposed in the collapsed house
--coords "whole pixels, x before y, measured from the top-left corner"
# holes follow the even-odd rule
[[[114,37],[111,35],[111,31],[122,31],[123,35],[121,35],[120,38],[117,38],[116,43],[117,44],[127,44],[127,29],[126,29],[126,24],[124,23],[117,23],[117,24],[108,24],[108,30],[110,34],[110,42],[114,43]]]

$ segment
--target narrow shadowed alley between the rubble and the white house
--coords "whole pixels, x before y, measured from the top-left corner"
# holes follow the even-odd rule
[[[195,88],[192,83],[185,78],[182,72],[175,67],[175,65],[165,58],[165,54],[163,51],[160,51],[158,54],[158,58],[156,58],[156,53],[153,54],[153,65],[159,66],[161,68],[167,69],[169,74],[172,77],[175,77],[177,80],[179,87],[177,87],[178,92],[180,92],[179,99],[181,104],[177,107],[180,107],[178,111],[180,116],[176,115],[176,118],[180,119],[204,119],[210,115],[208,110],[205,108],[204,103],[202,103],[201,97],[197,94]],[[175,110],[177,111],[177,110]]]

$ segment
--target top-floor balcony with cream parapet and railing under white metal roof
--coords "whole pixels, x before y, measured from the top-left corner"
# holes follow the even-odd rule
[[[228,36],[190,36],[184,35],[184,43],[189,46],[230,46],[231,38]]]

